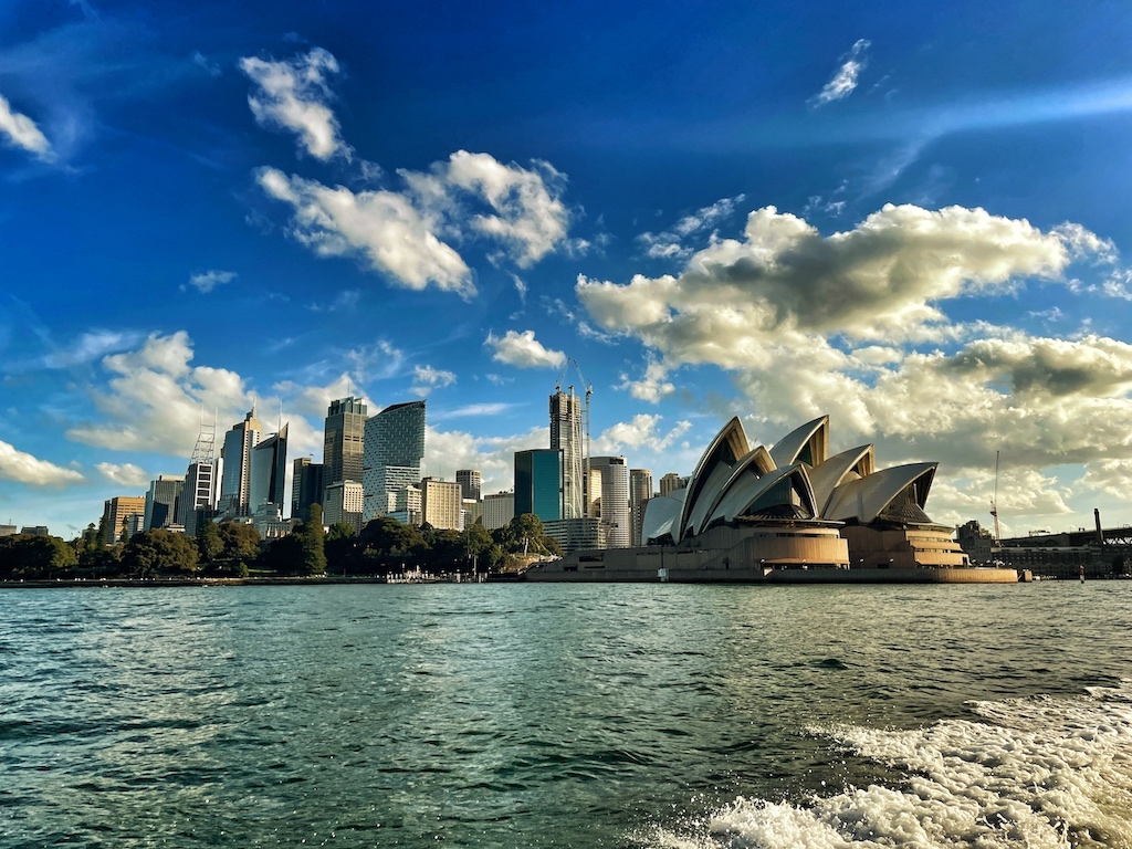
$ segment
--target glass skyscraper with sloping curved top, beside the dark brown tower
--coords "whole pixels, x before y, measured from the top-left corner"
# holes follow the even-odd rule
[[[424,458],[424,402],[393,404],[366,422],[366,453],[362,484],[369,522],[391,511],[389,496],[417,486]]]

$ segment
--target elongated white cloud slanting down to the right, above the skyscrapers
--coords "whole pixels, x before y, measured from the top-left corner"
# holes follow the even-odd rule
[[[271,197],[293,207],[291,234],[319,256],[361,257],[406,289],[475,293],[460,254],[437,238],[405,196],[332,189],[272,168],[260,169],[257,180]]]

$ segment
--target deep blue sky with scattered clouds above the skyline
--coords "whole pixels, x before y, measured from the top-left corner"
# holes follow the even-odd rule
[[[0,524],[252,404],[318,462],[348,395],[501,491],[556,386],[654,481],[829,414],[941,523],[1132,523],[1130,45],[1088,0],[8,0]]]

